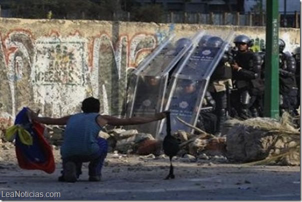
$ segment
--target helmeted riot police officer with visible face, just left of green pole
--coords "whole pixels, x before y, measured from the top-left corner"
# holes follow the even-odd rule
[[[252,40],[246,35],[237,35],[233,42],[238,51],[231,63],[233,85],[233,103],[239,103],[237,112],[239,117],[247,119],[251,117],[249,108],[253,106],[257,96],[263,93],[264,84],[260,79],[261,57],[255,54],[250,47]],[[257,116],[257,110],[253,111]]]

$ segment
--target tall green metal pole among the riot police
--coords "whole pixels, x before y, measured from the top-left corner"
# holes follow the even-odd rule
[[[266,0],[264,116],[279,118],[278,0]]]

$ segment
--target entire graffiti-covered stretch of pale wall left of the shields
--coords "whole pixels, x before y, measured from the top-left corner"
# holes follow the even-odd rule
[[[34,106],[44,115],[61,116],[79,111],[87,96],[100,99],[102,112],[121,110],[127,69],[160,40],[143,32],[112,42],[107,33],[87,39],[78,31],[68,36],[51,31],[35,38],[29,30],[12,30],[0,44],[1,110],[14,117],[23,106]]]

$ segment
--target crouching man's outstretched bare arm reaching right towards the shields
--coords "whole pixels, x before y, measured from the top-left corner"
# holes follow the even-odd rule
[[[160,120],[166,117],[165,112],[155,113],[154,116],[150,117],[131,117],[131,118],[116,118],[110,115],[99,115],[97,117],[97,122],[99,125],[104,126],[106,124],[109,125],[135,125],[142,124],[147,122],[152,122],[155,120]]]

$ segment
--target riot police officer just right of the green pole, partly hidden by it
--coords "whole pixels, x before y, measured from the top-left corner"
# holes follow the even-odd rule
[[[293,56],[283,52],[285,42],[279,38],[279,94],[280,115],[287,111],[294,116],[297,104],[297,86],[295,79],[296,63]]]

